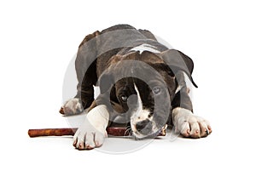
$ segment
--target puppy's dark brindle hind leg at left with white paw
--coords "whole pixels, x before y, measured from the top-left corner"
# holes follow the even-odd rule
[[[77,94],[61,107],[61,114],[76,115],[90,107],[94,100],[94,88],[96,85],[96,36],[99,31],[86,36],[79,45],[79,51],[75,60],[75,68],[78,78]]]

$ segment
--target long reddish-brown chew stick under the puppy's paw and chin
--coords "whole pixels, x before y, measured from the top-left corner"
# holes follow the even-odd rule
[[[78,128],[45,128],[45,129],[29,129],[28,135],[30,137],[40,136],[65,136],[72,135],[77,131]],[[128,136],[129,133],[125,132],[126,128],[107,128],[108,135],[113,136]],[[158,136],[166,135],[166,127],[163,127]]]

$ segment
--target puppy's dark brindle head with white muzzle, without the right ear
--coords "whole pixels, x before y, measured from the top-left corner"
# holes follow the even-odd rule
[[[177,66],[170,65],[173,60],[167,54],[116,55],[100,78],[101,94],[107,94],[115,116],[130,122],[137,139],[156,136],[170,119],[178,82]]]

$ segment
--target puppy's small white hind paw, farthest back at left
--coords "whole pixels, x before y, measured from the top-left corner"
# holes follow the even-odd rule
[[[73,98],[67,100],[67,102],[62,106],[65,115],[75,115],[83,111],[83,105],[78,98]]]

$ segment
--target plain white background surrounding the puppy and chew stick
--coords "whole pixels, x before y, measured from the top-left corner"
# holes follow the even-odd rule
[[[255,181],[255,8],[247,0],[1,1],[1,181]],[[85,35],[119,23],[194,60],[195,113],[213,133],[123,155],[76,151],[69,137],[28,138],[28,128],[68,127],[58,114],[67,65]]]

